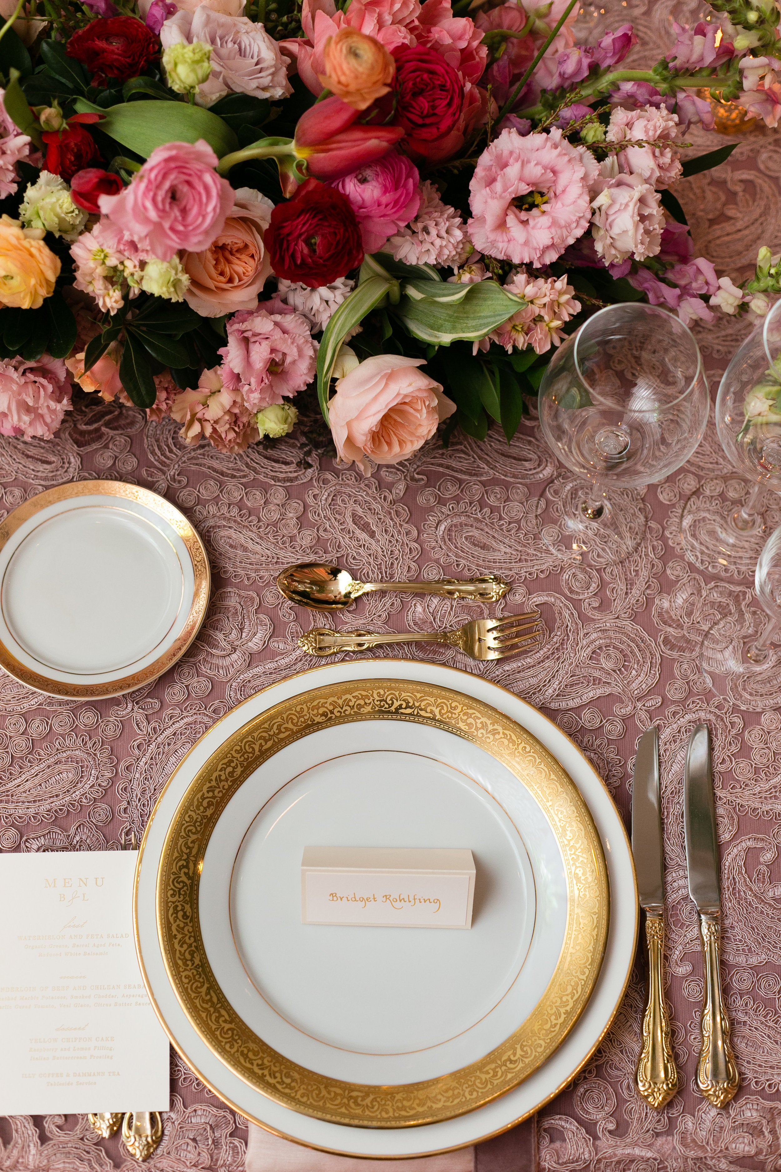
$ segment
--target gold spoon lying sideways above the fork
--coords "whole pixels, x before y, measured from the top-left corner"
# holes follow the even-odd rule
[[[303,561],[288,566],[276,579],[280,592],[292,602],[313,611],[342,611],[362,594],[378,590],[403,591],[406,594],[441,594],[474,602],[498,602],[509,590],[509,582],[498,574],[480,578],[439,578],[431,582],[359,582],[347,570]]]

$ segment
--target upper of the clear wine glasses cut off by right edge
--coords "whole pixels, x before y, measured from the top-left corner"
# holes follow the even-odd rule
[[[715,425],[741,478],[705,481],[686,502],[681,538],[686,557],[698,568],[747,578],[781,522],[781,500],[768,492],[781,491],[781,301],[727,367],[715,401]]]

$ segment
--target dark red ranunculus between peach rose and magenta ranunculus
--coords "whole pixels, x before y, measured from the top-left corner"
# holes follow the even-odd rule
[[[263,244],[278,277],[313,289],[330,285],[363,260],[350,200],[317,179],[307,179],[289,203],[276,205]]]

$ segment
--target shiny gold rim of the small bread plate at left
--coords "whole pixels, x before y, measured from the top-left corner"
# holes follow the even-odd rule
[[[177,639],[158,659],[138,672],[122,676],[119,680],[104,681],[103,683],[71,683],[62,680],[53,680],[20,663],[0,639],[0,667],[5,668],[8,675],[19,680],[20,683],[26,684],[28,688],[35,688],[37,691],[43,691],[49,696],[64,696],[71,700],[104,700],[109,696],[119,696],[125,691],[133,691],[144,683],[151,683],[152,680],[157,680],[159,675],[167,672],[187,650],[198,634],[208,606],[211,570],[206,548],[197,530],[193,529],[184,513],[179,512],[164,497],[158,496],[157,492],[151,492],[149,489],[142,489],[137,484],[125,484],[124,481],[76,481],[68,484],[59,484],[54,489],[47,489],[46,492],[39,492],[37,496],[32,497],[32,499],[26,500],[25,504],[19,505],[13,512],[8,513],[6,519],[0,524],[0,550],[5,547],[9,538],[13,537],[25,522],[50,505],[59,504],[61,500],[93,496],[135,500],[137,504],[145,505],[151,512],[157,513],[158,517],[167,522],[171,529],[176,530],[177,534],[184,541],[192,563],[194,582],[192,600],[190,601],[190,613]]]

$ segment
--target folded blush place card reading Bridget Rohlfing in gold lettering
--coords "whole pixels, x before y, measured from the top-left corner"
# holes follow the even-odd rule
[[[301,922],[371,928],[471,928],[472,851],[307,846]]]

